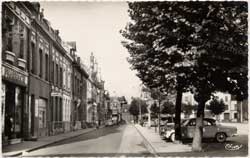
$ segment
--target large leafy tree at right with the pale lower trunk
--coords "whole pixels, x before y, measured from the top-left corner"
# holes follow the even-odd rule
[[[198,102],[196,129],[192,148],[202,150],[202,126],[205,103],[216,91],[236,94],[238,99],[247,94],[247,3],[206,2],[196,9],[197,53],[192,86]],[[189,10],[189,9],[188,9]],[[190,19],[186,16],[185,19]],[[216,32],[216,33],[215,33]],[[200,42],[202,41],[202,42]]]

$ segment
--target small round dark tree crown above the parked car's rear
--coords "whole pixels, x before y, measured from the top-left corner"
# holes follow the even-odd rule
[[[207,105],[207,109],[210,110],[212,114],[219,115],[226,110],[226,106],[223,100],[212,99]]]

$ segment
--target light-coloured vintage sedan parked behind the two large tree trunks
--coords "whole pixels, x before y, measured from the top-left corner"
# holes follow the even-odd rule
[[[181,132],[182,138],[193,138],[196,126],[196,118],[190,118],[182,121]],[[216,124],[216,120],[211,118],[203,119],[203,138],[215,138],[219,143],[226,141],[227,137],[236,136],[237,128],[231,126],[222,126]],[[165,129],[165,138],[175,141],[174,125],[167,126]]]

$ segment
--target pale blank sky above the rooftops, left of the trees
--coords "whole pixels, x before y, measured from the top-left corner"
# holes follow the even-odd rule
[[[94,53],[111,95],[139,96],[140,80],[130,69],[119,33],[129,21],[126,2],[41,2],[41,7],[64,41],[76,41],[87,65]]]

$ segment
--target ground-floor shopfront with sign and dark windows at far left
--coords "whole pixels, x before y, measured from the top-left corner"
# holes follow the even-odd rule
[[[14,66],[2,65],[2,133],[3,142],[24,138],[26,87],[28,75]]]

